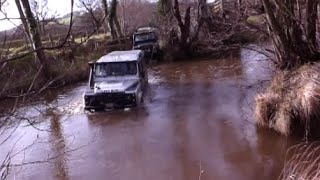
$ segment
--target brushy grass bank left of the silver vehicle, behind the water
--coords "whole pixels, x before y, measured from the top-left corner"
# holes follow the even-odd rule
[[[120,42],[120,43],[119,43]],[[89,39],[83,44],[74,44],[68,48],[46,51],[50,64],[51,79],[40,80],[32,54],[22,59],[3,64],[0,75],[0,98],[24,94],[28,91],[45,87],[67,85],[86,80],[89,75],[89,61],[96,61],[101,56],[114,50],[131,49],[128,39],[112,41],[109,36],[99,36]],[[16,47],[13,55],[25,53],[25,46]],[[32,84],[32,86],[31,86]]]

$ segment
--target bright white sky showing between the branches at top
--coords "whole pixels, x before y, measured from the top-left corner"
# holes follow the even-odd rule
[[[58,15],[63,16],[70,12],[71,0],[47,0],[48,7],[50,8],[49,14],[54,14],[57,12]],[[121,0],[120,0],[121,1]],[[154,0],[153,0],[154,1]],[[208,2],[213,2],[215,0],[208,0]],[[7,5],[2,7],[7,13],[8,18],[19,18],[19,13],[15,5],[14,0],[7,0]],[[41,2],[41,1],[40,1]],[[77,10],[77,0],[75,0],[74,10]],[[1,20],[5,16],[0,12],[0,31],[14,28],[16,25],[19,25],[21,22],[18,19],[12,19],[10,21]]]

